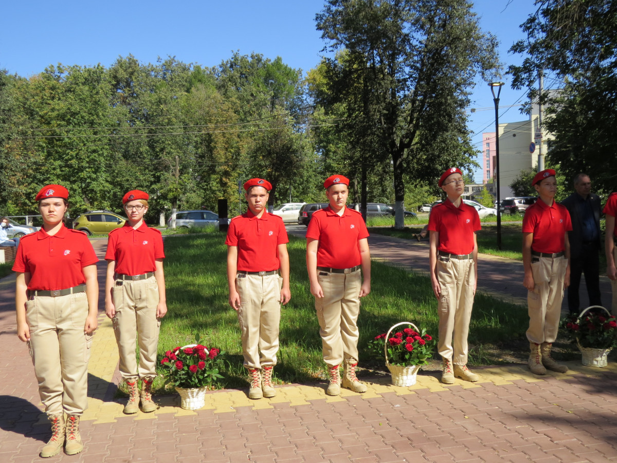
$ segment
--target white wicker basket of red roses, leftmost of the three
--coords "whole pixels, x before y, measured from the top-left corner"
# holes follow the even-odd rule
[[[199,335],[195,336],[199,343]],[[202,344],[189,344],[165,352],[160,361],[164,369],[165,384],[173,383],[180,394],[180,406],[197,410],[205,404],[205,391],[216,380],[223,378],[219,369],[222,356],[217,348],[208,349]]]

